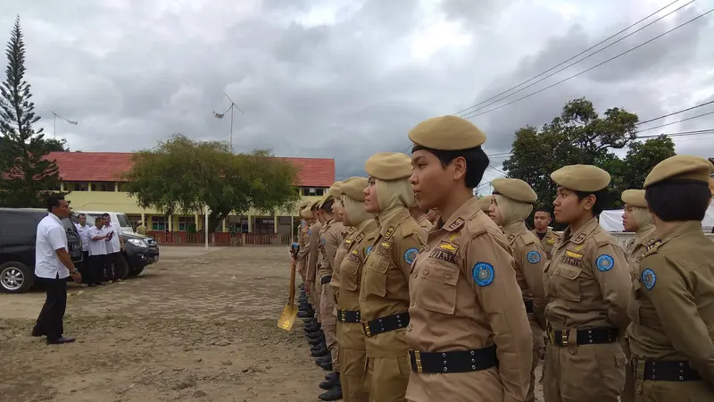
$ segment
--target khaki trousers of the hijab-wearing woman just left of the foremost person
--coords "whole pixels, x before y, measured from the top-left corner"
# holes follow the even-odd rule
[[[369,402],[404,402],[409,384],[409,356],[367,357],[365,388]]]

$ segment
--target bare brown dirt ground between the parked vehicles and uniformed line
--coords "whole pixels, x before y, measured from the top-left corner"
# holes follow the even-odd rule
[[[319,400],[302,321],[277,326],[288,268],[276,247],[162,247],[135,279],[72,284],[61,346],[29,336],[44,293],[0,295],[0,401]]]

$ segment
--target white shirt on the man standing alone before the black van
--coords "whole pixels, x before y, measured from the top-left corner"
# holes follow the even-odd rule
[[[47,214],[37,224],[37,240],[35,240],[35,275],[39,278],[67,278],[67,269],[57,256],[56,250],[67,247],[67,233],[62,221],[55,214]]]

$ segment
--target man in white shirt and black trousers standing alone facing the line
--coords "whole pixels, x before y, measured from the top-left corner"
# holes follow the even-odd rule
[[[47,336],[47,344],[74,342],[74,338],[62,335],[62,319],[67,308],[67,277],[76,282],[82,276],[72,264],[67,251],[67,233],[62,226],[62,219],[70,216],[70,205],[62,196],[47,198],[47,214],[37,224],[35,241],[35,275],[45,284],[46,300],[37,316],[37,323],[32,329],[32,336]]]

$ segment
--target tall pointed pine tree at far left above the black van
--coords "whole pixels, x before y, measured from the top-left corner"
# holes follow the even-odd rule
[[[0,84],[0,203],[10,207],[43,207],[46,197],[59,186],[60,173],[54,161],[43,157],[48,153],[42,129],[35,132],[32,124],[35,104],[30,101],[29,83],[25,80],[25,43],[22,40],[20,15],[12,27],[5,50],[7,68]]]

